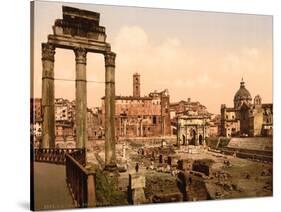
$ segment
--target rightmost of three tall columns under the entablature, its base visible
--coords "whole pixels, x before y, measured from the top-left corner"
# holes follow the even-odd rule
[[[115,57],[107,52],[105,59],[105,170],[115,171]]]

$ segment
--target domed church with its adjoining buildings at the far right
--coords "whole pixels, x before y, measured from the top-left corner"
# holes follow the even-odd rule
[[[252,101],[245,82],[233,99],[234,107],[221,105],[221,135],[233,136],[272,136],[273,105],[262,104],[260,95]]]

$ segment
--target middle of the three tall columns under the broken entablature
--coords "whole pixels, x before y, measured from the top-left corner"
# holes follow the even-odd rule
[[[87,144],[87,81],[86,81],[86,55],[83,48],[75,48],[76,61],[76,148],[85,148]]]

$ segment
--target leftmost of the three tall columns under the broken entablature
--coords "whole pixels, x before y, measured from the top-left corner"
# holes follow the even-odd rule
[[[42,43],[42,148],[55,147],[55,47]]]

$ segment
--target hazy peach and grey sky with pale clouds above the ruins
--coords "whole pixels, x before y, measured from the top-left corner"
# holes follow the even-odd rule
[[[117,54],[116,95],[168,89],[170,101],[191,98],[209,112],[233,106],[241,78],[252,98],[272,102],[272,16],[37,1],[34,14],[34,97],[41,97],[41,43],[52,34],[62,5],[100,13],[107,42]],[[75,80],[74,52],[56,49],[55,78]],[[87,80],[104,81],[104,56],[87,54]],[[88,107],[101,106],[103,83],[87,84]],[[55,97],[75,99],[74,81],[55,81]]]

